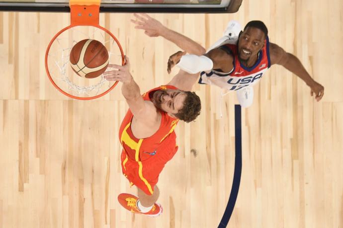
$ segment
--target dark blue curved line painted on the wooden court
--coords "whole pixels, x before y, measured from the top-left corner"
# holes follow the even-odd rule
[[[238,190],[241,183],[242,174],[242,118],[241,105],[235,105],[235,172],[234,180],[232,182],[231,193],[226,206],[224,215],[218,228],[226,228],[234,211],[235,203],[238,196]]]

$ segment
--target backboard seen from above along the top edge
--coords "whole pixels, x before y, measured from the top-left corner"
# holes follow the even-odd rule
[[[234,13],[242,0],[101,0],[100,12]],[[69,0],[0,0],[0,11],[69,12]]]

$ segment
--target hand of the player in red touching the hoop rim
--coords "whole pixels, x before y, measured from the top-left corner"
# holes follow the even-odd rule
[[[130,82],[132,80],[132,75],[130,73],[130,61],[129,57],[125,56],[125,65],[120,66],[116,64],[108,64],[108,68],[117,69],[115,71],[107,71],[103,73],[104,78],[109,81],[121,81],[123,83]]]

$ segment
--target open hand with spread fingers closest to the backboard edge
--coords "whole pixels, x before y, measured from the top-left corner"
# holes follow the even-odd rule
[[[145,34],[150,37],[160,36],[167,28],[160,21],[152,18],[146,13],[134,13],[136,20],[131,22],[136,24],[135,28],[145,30]]]

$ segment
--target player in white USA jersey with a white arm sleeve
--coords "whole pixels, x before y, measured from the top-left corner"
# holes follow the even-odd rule
[[[135,16],[138,20],[132,22],[137,24],[136,28],[144,29],[148,36],[162,36],[185,50],[184,36],[178,36],[147,14]],[[303,79],[317,101],[322,99],[324,87],[306,72],[297,57],[269,43],[268,30],[263,22],[250,21],[241,30],[237,21],[230,21],[224,36],[206,54],[185,55],[185,52],[177,52],[172,55],[168,72],[175,65],[190,74],[201,72],[199,83],[236,91],[241,106],[249,107],[254,98],[253,85],[271,65],[278,64]]]

